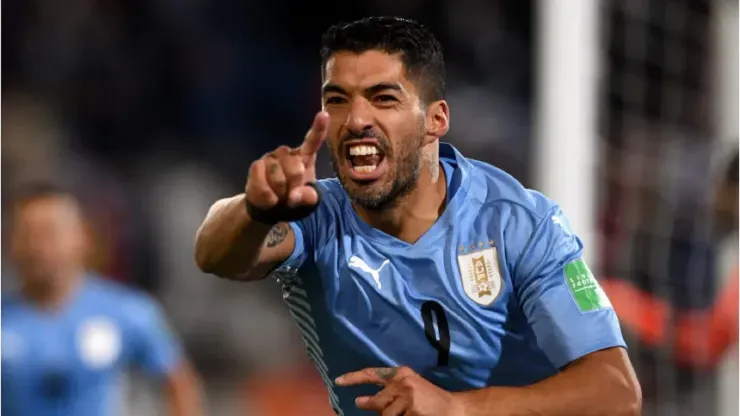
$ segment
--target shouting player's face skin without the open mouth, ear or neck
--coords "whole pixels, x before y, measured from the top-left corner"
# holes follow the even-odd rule
[[[322,88],[332,163],[347,194],[367,210],[400,202],[416,186],[423,163],[424,104],[409,91],[414,85],[403,65],[387,58],[379,52],[338,54],[327,62]],[[368,137],[378,139],[389,169],[366,184],[350,178],[344,143]]]

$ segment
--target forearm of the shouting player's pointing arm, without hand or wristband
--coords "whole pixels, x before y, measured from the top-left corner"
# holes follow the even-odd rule
[[[223,277],[240,275],[257,265],[270,232],[268,225],[253,222],[244,195],[219,201],[209,211],[195,239],[198,267]]]

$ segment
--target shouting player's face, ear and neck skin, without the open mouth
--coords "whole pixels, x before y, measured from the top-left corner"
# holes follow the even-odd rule
[[[444,100],[424,103],[399,55],[339,52],[326,64],[322,105],[330,122],[327,147],[342,186],[366,222],[413,242],[439,217],[439,138],[449,130]],[[345,143],[376,138],[387,169],[379,179],[351,179]],[[444,179],[444,178],[442,178]]]

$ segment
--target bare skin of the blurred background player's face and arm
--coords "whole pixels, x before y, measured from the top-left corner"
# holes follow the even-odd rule
[[[55,195],[14,208],[10,254],[23,294],[42,310],[61,309],[85,274],[89,239],[80,207]],[[170,414],[200,414],[197,376],[186,361],[166,376],[165,391]]]

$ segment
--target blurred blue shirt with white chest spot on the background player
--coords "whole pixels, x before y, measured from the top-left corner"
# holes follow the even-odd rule
[[[164,375],[180,358],[157,304],[113,282],[86,279],[57,312],[2,300],[3,415],[114,415],[127,366]]]

